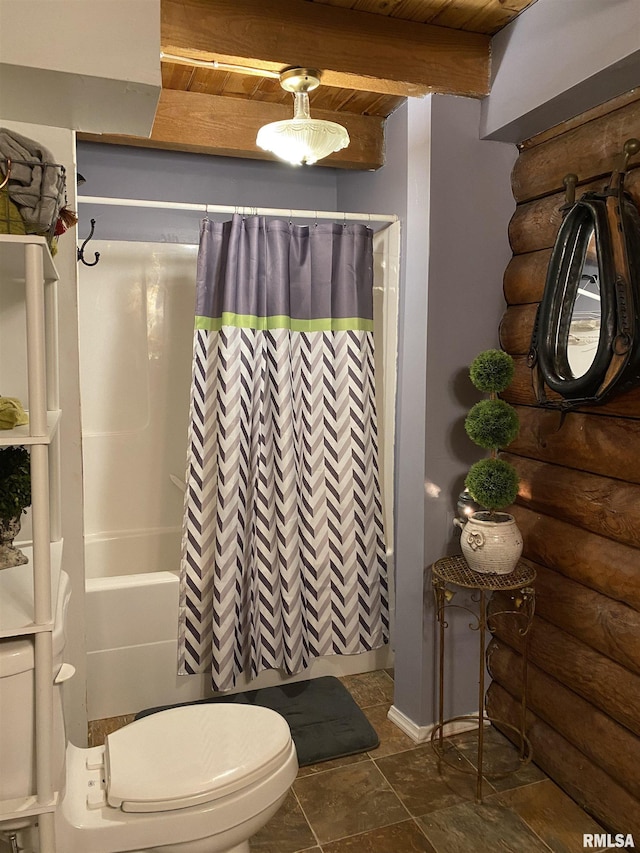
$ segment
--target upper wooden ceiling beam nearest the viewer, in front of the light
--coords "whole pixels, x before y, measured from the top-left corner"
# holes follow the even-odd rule
[[[489,94],[487,35],[305,0],[162,0],[166,53],[270,71],[318,68],[329,86]]]

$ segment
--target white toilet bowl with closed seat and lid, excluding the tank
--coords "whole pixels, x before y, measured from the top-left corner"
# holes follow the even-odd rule
[[[275,813],[298,771],[286,721],[255,705],[183,706],[116,735],[109,735],[109,772],[106,747],[67,745],[56,810],[65,853],[235,849]]]

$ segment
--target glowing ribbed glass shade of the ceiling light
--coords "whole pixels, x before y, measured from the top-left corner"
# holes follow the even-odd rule
[[[256,144],[281,160],[311,165],[349,144],[346,128],[334,121],[291,118],[266,124],[258,131]]]

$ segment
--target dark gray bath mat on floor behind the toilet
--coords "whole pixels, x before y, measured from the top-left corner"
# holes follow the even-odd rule
[[[208,702],[262,705],[282,714],[289,723],[300,767],[366,752],[375,749],[380,743],[375,729],[354,702],[347,688],[332,675],[283,686],[263,687],[261,690],[249,690],[246,693],[217,696],[215,699],[148,708],[136,714],[136,720],[167,708],[202,705]]]

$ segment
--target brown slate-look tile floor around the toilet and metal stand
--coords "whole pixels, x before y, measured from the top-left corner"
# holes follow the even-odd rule
[[[438,764],[387,719],[393,678],[386,671],[342,679],[378,732],[361,755],[302,767],[278,814],[251,840],[251,853],[579,853],[583,833],[602,828],[530,764],[484,783]],[[90,724],[92,744],[131,717]],[[487,730],[486,760],[497,768],[513,747]],[[472,735],[450,739],[451,758],[469,769]]]

